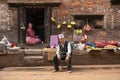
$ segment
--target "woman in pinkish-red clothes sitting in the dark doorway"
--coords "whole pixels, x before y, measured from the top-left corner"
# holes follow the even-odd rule
[[[38,38],[38,36],[35,36],[35,32],[32,29],[32,24],[28,24],[28,29],[26,33],[26,43],[27,44],[37,44],[40,43],[41,40]]]

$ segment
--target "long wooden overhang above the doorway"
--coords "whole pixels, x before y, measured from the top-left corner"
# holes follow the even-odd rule
[[[42,6],[59,6],[61,0],[8,0],[8,4],[17,6],[42,5]]]

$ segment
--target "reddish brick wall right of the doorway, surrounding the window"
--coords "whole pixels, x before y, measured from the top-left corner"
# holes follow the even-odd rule
[[[88,40],[120,40],[120,6],[113,7],[110,0],[62,0],[60,7],[53,8],[52,16],[62,23],[64,20],[74,20],[74,15],[103,15],[103,29],[88,32]],[[57,29],[53,25],[53,34],[65,32],[68,40],[73,40],[73,29],[66,27]],[[99,36],[96,37],[96,36]]]

